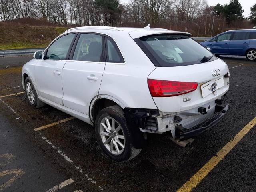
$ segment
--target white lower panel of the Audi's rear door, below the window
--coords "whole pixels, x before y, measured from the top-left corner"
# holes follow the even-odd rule
[[[67,61],[62,70],[63,104],[89,114],[91,100],[98,95],[104,62]]]

